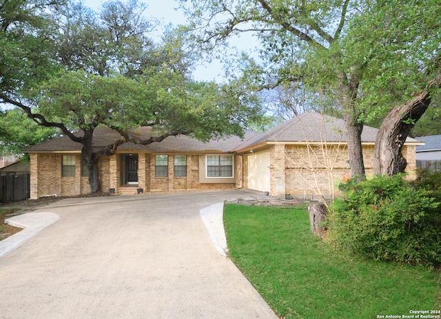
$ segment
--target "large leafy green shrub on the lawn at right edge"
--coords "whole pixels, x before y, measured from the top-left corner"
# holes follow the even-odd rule
[[[441,264],[441,213],[421,179],[376,176],[342,188],[330,206],[327,238],[338,248],[383,261]]]

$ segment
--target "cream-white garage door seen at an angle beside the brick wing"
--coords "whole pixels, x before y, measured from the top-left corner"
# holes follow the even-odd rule
[[[247,155],[248,161],[248,188],[270,191],[269,183],[269,152]]]

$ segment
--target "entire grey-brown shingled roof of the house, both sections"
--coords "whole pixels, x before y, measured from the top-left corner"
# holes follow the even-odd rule
[[[154,142],[148,145],[134,144],[132,142],[119,146],[119,151],[146,151],[154,153],[174,153],[174,152],[233,152],[245,151],[255,145],[267,144],[267,142],[347,142],[345,133],[346,123],[344,120],[333,118],[320,113],[302,113],[287,122],[280,124],[264,133],[247,131],[245,137],[238,136],[225,137],[220,140],[211,140],[207,143],[201,142],[185,135],[169,136],[162,142]],[[362,132],[362,143],[375,143],[378,129],[365,126]],[[81,132],[76,133],[81,136]],[[141,139],[147,140],[151,135],[150,127],[141,127],[133,132]],[[99,127],[94,130],[92,147],[96,150],[112,144],[120,137],[112,129]],[[406,142],[417,140],[407,138]],[[81,151],[81,144],[72,142],[69,137],[59,137],[48,142],[30,146],[23,150],[26,153],[39,152],[68,152]]]

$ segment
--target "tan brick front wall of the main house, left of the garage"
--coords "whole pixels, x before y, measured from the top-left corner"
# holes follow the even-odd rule
[[[69,153],[72,155],[72,153]],[[235,182],[225,183],[200,181],[200,165],[203,154],[187,155],[187,177],[174,176],[174,155],[168,155],[168,176],[155,176],[155,157],[150,153],[138,153],[138,184],[125,185],[123,181],[123,156],[126,153],[116,153],[99,159],[99,178],[101,191],[121,195],[136,195],[142,188],[147,192],[180,192],[192,190],[227,190],[240,188],[243,185],[243,159],[235,155]],[[181,154],[179,154],[181,155]],[[90,186],[88,177],[81,177],[81,154],[75,153],[75,176],[61,177],[63,153],[31,153],[31,198],[42,196],[74,196],[88,194]]]

